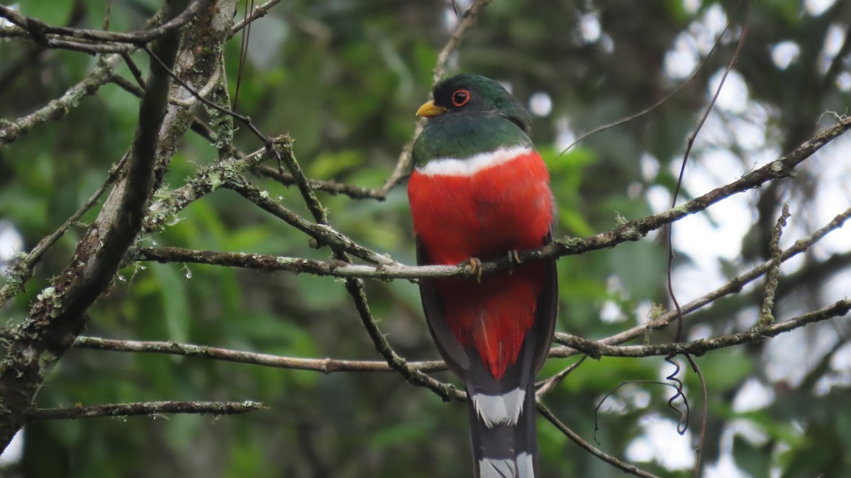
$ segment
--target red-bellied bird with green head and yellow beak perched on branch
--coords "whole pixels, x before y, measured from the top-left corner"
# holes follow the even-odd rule
[[[428,118],[408,180],[418,264],[475,268],[551,242],[550,175],[528,137],[528,111],[500,83],[448,78],[417,115]],[[534,376],[556,324],[555,261],[480,282],[422,280],[420,295],[437,349],[470,397],[476,476],[540,476]]]

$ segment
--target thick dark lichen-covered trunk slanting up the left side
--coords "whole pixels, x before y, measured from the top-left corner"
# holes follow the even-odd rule
[[[165,18],[173,18],[185,9],[185,0],[167,2]],[[169,31],[154,43],[153,49],[166,65],[171,65],[179,42],[180,32]],[[45,378],[83,331],[85,311],[109,285],[124,253],[141,230],[169,84],[166,71],[151,65],[126,174],[112,189],[98,218],[77,245],[70,264],[51,287],[38,295],[25,322],[15,327],[7,355],[0,364],[2,448],[9,445],[26,423],[26,413],[31,410]]]

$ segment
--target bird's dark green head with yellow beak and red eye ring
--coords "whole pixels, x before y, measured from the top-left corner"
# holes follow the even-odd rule
[[[444,119],[445,115],[498,115],[517,124],[524,133],[531,128],[526,108],[499,82],[482,75],[461,74],[447,78],[437,83],[433,96],[433,101],[420,106],[417,116]]]

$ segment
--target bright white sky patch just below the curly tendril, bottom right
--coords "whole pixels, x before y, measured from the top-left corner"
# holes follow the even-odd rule
[[[694,466],[691,430],[680,436],[677,433],[677,422],[661,418],[655,413],[641,418],[639,423],[644,433],[626,447],[626,458],[629,461],[655,461],[669,470]]]

